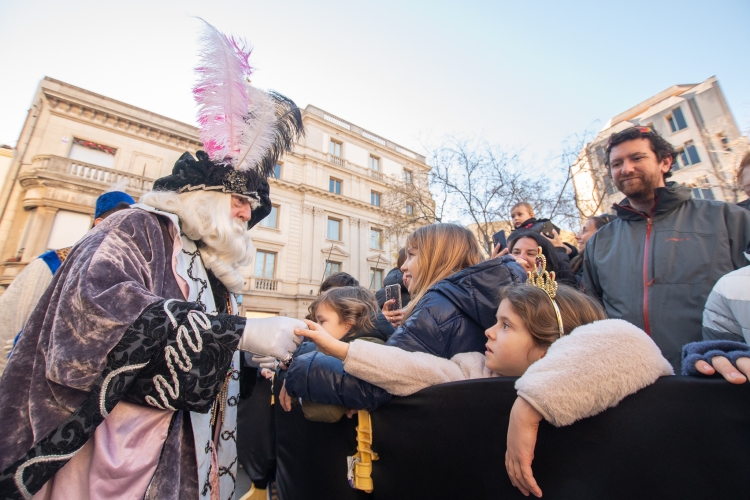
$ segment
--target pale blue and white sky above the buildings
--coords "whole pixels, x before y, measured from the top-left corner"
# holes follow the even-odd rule
[[[253,84],[419,153],[448,135],[552,161],[564,142],[717,76],[750,129],[750,2],[0,0],[0,143],[49,76],[195,124],[204,18]]]

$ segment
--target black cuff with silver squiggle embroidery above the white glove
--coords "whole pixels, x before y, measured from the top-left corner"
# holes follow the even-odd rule
[[[190,302],[168,300],[149,307],[131,330],[146,343],[160,344],[159,353],[139,372],[125,399],[165,410],[208,412],[244,327],[244,318],[208,315]]]

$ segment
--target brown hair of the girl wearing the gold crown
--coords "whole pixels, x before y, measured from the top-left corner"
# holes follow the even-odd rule
[[[510,302],[537,347],[546,349],[560,338],[557,314],[547,292],[535,286],[515,283],[501,289],[500,298]],[[599,302],[569,286],[558,286],[555,302],[560,308],[564,335],[581,325],[607,319]]]

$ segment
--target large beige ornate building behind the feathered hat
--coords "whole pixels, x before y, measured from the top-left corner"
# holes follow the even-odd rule
[[[429,170],[423,156],[314,106],[303,120],[307,135],[270,180],[273,212],[251,230],[248,315],[303,317],[324,276],[338,270],[380,288],[398,250],[384,237],[386,181]],[[193,126],[42,80],[0,192],[0,287],[42,252],[81,238],[111,185],[138,199],[200,147]]]

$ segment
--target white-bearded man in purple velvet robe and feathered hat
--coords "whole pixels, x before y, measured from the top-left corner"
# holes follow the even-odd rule
[[[234,294],[303,130],[249,86],[244,44],[211,26],[203,43],[206,152],[73,247],[0,379],[0,498],[234,496],[238,348],[288,360],[303,326],[238,316]]]

